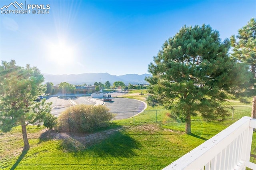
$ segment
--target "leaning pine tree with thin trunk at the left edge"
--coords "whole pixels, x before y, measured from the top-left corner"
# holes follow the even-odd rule
[[[43,75],[36,67],[19,67],[14,60],[0,66],[0,130],[21,125],[24,150],[29,149],[26,125],[41,123],[50,114],[51,103],[33,100],[44,92]]]

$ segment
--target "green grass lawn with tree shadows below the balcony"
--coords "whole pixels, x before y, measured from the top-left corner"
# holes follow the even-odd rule
[[[138,95],[140,92],[134,90],[127,96],[145,100],[146,95]],[[192,120],[192,134],[187,135],[184,123],[170,120],[167,111],[157,111],[159,122],[154,123],[155,110],[160,109],[148,107],[147,112],[135,117],[135,123],[133,119],[114,121],[110,128],[94,134],[58,134],[29,126],[30,150],[23,153],[21,129],[17,127],[0,134],[0,168],[162,169],[236,121],[206,122],[196,117]],[[238,117],[243,114],[250,115],[250,110],[236,113]],[[252,154],[256,155],[255,132]],[[256,158],[251,159],[256,162]]]

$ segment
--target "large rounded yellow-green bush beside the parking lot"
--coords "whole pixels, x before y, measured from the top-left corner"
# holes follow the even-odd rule
[[[111,113],[104,106],[75,105],[58,118],[60,132],[92,132],[110,125]]]

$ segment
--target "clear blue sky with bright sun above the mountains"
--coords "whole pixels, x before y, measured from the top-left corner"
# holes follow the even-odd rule
[[[141,75],[182,26],[210,24],[224,40],[256,17],[255,0],[16,1],[49,4],[49,14],[1,12],[0,60],[49,74]],[[0,8],[11,2],[1,0]]]

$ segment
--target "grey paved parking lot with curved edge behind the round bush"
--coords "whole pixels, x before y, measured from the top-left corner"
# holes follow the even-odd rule
[[[142,101],[114,97],[112,101],[103,102],[103,99],[92,97],[70,96],[70,97],[47,97],[47,102],[52,102],[52,115],[59,116],[68,107],[78,104],[104,105],[115,115],[115,119],[126,119],[143,111],[146,104]]]

